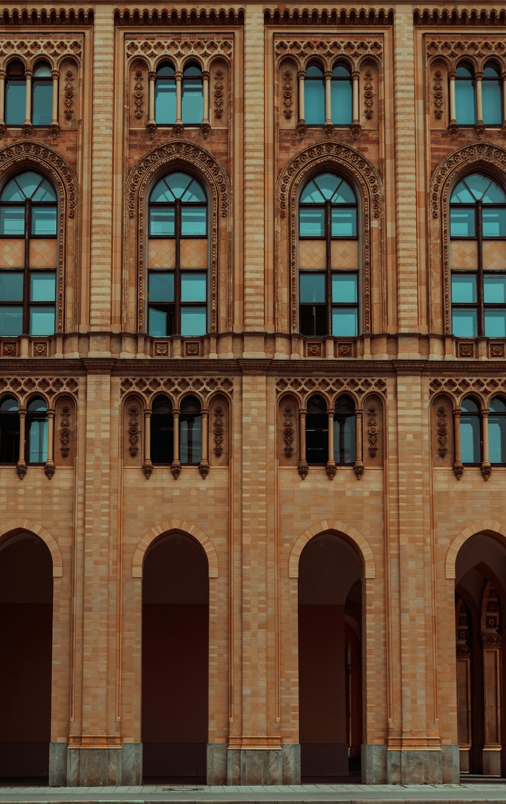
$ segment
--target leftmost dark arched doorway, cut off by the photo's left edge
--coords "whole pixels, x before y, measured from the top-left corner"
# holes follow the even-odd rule
[[[42,539],[0,543],[0,779],[47,782],[51,740],[53,573]]]

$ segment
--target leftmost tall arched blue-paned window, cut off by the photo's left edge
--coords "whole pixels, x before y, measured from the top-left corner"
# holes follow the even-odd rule
[[[0,334],[55,332],[58,202],[33,170],[0,193]]]

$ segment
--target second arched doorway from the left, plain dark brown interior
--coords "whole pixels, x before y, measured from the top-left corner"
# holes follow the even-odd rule
[[[206,779],[209,572],[197,541],[153,542],[142,582],[143,774]]]

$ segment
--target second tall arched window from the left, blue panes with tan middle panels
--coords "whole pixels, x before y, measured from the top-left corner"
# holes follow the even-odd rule
[[[207,267],[206,193],[193,176],[170,173],[149,195],[150,335],[206,334]]]

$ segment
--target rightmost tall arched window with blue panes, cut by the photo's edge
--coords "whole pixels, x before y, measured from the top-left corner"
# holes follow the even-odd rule
[[[460,338],[506,336],[506,195],[489,176],[474,173],[451,193],[451,314]]]

